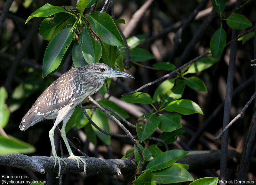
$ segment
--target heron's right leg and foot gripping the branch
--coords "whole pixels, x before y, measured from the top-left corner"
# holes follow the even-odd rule
[[[73,110],[73,111],[74,111],[74,110]],[[85,165],[86,165],[86,163],[85,163],[84,160],[81,159],[81,157],[84,157],[84,156],[79,157],[79,156],[75,156],[75,155],[73,154],[73,152],[72,152],[72,150],[71,150],[71,148],[70,148],[70,146],[69,146],[69,144],[68,144],[68,139],[67,139],[66,131],[65,131],[66,124],[67,124],[67,122],[68,122],[68,119],[71,117],[73,111],[70,111],[70,112],[68,113],[68,115],[63,119],[63,126],[62,126],[62,128],[61,128],[61,130],[60,130],[60,134],[61,134],[61,137],[62,137],[63,140],[64,140],[64,143],[65,143],[66,146],[67,146],[68,153],[69,153],[69,158],[74,158],[74,159],[76,160],[78,169],[80,168],[80,167],[79,167],[79,161],[81,161],[81,162],[84,164],[84,172],[85,172],[85,167],[86,167]]]

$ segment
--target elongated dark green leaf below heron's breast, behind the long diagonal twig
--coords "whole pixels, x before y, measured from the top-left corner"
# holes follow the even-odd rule
[[[100,104],[101,106],[104,106],[104,107],[108,107],[108,108],[112,109],[113,111],[116,111],[124,119],[129,118],[129,115],[124,111],[124,109],[122,109],[121,107],[119,107],[117,104],[115,104],[112,101],[109,101],[107,99],[102,99],[102,100],[98,101],[98,104]],[[120,119],[118,116],[116,116],[112,112],[109,112],[109,113],[111,113],[113,116],[115,116],[116,119]]]

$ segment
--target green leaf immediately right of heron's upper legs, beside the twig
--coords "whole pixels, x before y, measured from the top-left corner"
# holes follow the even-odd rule
[[[86,112],[88,113],[89,116],[91,116],[90,109],[86,109]],[[82,111],[82,109],[79,107],[76,107],[66,125],[66,133],[68,133],[68,131],[73,126],[76,126],[76,128],[80,129],[80,128],[83,128],[88,123],[89,123],[89,120],[84,115],[84,112]]]

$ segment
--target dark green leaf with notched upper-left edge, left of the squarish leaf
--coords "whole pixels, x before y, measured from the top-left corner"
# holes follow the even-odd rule
[[[156,128],[160,123],[160,119],[156,116],[156,114],[151,112],[143,114],[142,116],[140,116],[138,120],[140,119],[147,120],[145,125],[141,125],[139,123],[136,124],[137,135],[141,142],[147,139],[151,134],[153,134],[156,131]]]

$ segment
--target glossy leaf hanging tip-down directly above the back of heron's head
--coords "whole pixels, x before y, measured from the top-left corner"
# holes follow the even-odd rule
[[[102,54],[101,45],[94,40],[88,26],[84,28],[82,40],[83,56],[87,64],[99,62]]]

